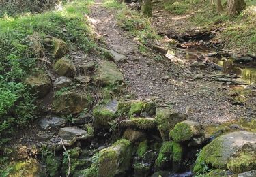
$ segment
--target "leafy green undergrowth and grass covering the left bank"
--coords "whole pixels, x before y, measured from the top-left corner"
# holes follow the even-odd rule
[[[90,3],[77,0],[56,11],[0,18],[0,147],[36,116],[35,95],[23,80],[42,67],[44,37],[63,39],[84,52],[97,49],[84,18]]]

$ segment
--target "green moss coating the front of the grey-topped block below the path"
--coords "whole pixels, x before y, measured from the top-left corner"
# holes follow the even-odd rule
[[[94,116],[94,124],[96,127],[110,127],[111,120],[115,120],[115,113],[104,108],[104,106],[96,106],[92,112]]]

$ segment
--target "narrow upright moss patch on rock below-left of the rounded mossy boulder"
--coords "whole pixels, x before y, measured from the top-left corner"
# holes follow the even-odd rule
[[[173,142],[163,142],[160,152],[155,161],[155,167],[157,170],[165,170],[171,165],[171,153],[172,153]]]

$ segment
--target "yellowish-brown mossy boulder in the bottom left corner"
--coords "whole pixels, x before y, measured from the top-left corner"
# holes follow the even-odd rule
[[[30,158],[14,163],[9,176],[46,176],[46,172],[42,170],[42,166],[36,159]]]

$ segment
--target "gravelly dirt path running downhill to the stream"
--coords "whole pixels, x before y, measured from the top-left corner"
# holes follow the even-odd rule
[[[221,123],[236,118],[253,118],[255,112],[231,104],[227,92],[230,88],[210,78],[195,80],[197,72],[187,72],[172,63],[154,61],[144,57],[132,37],[117,25],[115,10],[103,7],[100,0],[91,7],[96,33],[104,37],[107,48],[125,54],[127,63],[119,63],[128,88],[141,99],[158,97],[180,112],[187,112],[190,120],[201,123]],[[205,74],[205,73],[203,73]],[[168,81],[164,76],[170,76]]]

